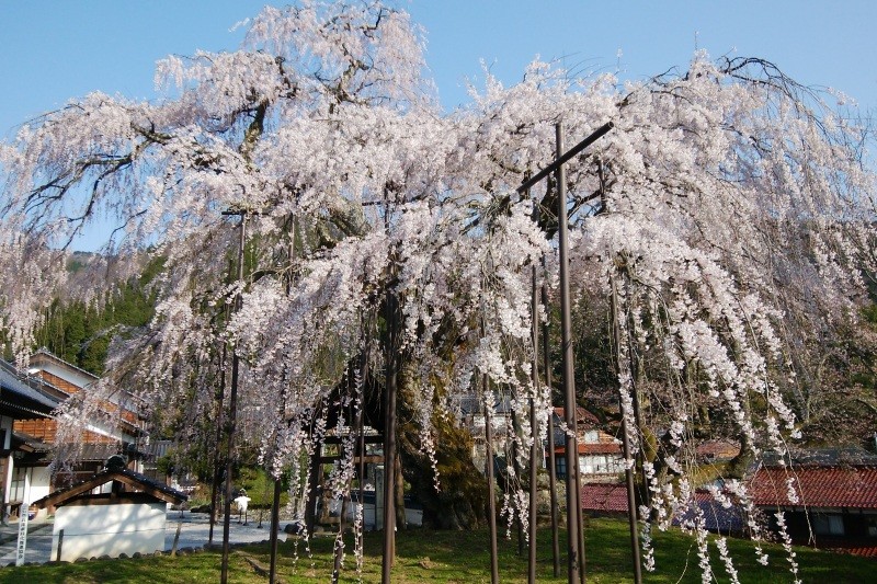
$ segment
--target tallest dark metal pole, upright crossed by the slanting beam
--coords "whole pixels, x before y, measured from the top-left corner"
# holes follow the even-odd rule
[[[607,130],[608,131],[608,130]],[[557,156],[563,152],[563,126],[555,126],[557,138]],[[538,175],[537,175],[538,176]],[[579,540],[581,525],[577,508],[581,506],[578,485],[578,458],[579,448],[576,439],[576,385],[572,362],[572,317],[569,296],[569,243],[567,226],[567,190],[563,165],[557,164],[557,221],[560,248],[560,333],[563,363],[563,412],[567,422],[567,436],[565,440],[567,462],[567,553],[569,584],[579,581],[581,558],[579,556]]]

